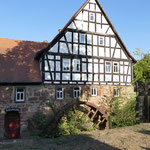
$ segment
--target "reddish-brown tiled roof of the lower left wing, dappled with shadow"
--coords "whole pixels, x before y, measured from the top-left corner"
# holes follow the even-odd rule
[[[0,38],[0,85],[42,82],[34,57],[47,46],[47,43]]]

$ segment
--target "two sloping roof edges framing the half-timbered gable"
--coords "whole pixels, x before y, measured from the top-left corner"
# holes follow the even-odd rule
[[[82,7],[73,15],[73,17],[69,20],[69,22],[64,26],[64,28],[61,30],[61,32],[59,32],[59,34],[57,36],[54,37],[54,39],[50,42],[50,44],[48,45],[47,48],[39,51],[36,55],[37,59],[40,59],[42,57],[42,55],[44,55],[51,47],[53,47],[55,45],[55,43],[57,42],[57,40],[59,38],[61,38],[61,36],[63,35],[63,33],[66,31],[67,27],[71,24],[71,22],[77,17],[77,15],[82,11],[82,9],[89,3],[90,0],[87,0]],[[127,55],[132,59],[132,62],[136,63],[136,59],[130,54],[130,52],[128,51],[127,47],[125,46],[125,44],[123,43],[121,37],[119,36],[118,32],[116,31],[115,27],[113,26],[112,22],[110,21],[109,17],[107,16],[105,10],[103,9],[102,5],[100,4],[99,0],[95,0],[96,3],[98,4],[98,6],[100,7],[102,13],[104,14],[106,20],[108,21],[108,23],[110,24],[112,30],[114,31],[114,34],[116,35],[116,37],[118,38],[119,42],[122,44],[124,50],[126,51]]]

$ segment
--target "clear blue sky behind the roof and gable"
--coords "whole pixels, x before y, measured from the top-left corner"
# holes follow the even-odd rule
[[[0,38],[51,41],[86,0],[1,0]],[[132,53],[150,50],[150,0],[100,0]]]

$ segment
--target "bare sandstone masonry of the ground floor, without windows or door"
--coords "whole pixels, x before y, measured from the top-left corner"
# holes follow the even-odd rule
[[[76,85],[41,85],[41,86],[24,86],[25,102],[17,103],[15,101],[15,91],[18,86],[1,86],[0,87],[0,133],[4,132],[5,110],[7,108],[20,108],[20,124],[21,127],[27,126],[27,120],[41,109],[41,103],[51,97],[55,100],[55,90],[63,87],[65,90],[65,98],[63,100],[55,100],[58,109],[73,100],[73,87]],[[109,101],[114,95],[114,86],[79,86],[81,87],[81,100],[88,101],[98,106],[109,109]],[[91,96],[91,87],[98,89],[96,97]],[[120,96],[133,91],[132,86],[122,86],[120,88]],[[48,96],[49,95],[49,96]],[[1,135],[0,135],[1,136]]]

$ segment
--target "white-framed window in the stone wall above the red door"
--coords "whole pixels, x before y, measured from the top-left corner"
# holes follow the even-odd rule
[[[24,102],[24,100],[25,100],[24,92],[25,92],[24,88],[16,89],[16,102]]]

